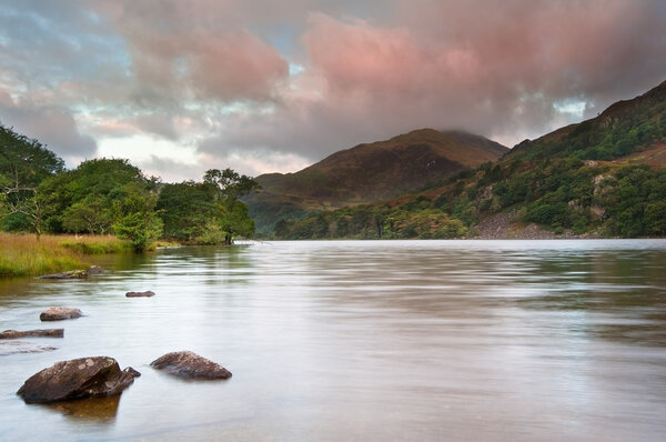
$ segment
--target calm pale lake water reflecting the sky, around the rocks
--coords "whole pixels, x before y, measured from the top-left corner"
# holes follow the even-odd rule
[[[666,241],[335,241],[101,258],[88,281],[0,282],[0,440],[663,441]],[[153,290],[150,299],[127,291]],[[50,305],[85,317],[40,323]],[[192,350],[229,381],[149,366]],[[57,361],[143,375],[27,405]]]

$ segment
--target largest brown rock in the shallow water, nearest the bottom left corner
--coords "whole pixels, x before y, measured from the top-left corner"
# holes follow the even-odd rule
[[[72,359],[33,374],[17,394],[27,403],[111,396],[122,393],[139,375],[131,366],[121,371],[113,358]]]

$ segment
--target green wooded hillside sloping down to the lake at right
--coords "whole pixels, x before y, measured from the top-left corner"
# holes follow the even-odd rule
[[[666,82],[427,191],[281,223],[278,238],[666,235]]]

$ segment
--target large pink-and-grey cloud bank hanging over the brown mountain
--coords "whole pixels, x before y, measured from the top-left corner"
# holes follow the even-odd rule
[[[657,1],[395,2],[383,22],[309,16],[304,70],[272,112],[220,118],[215,143],[312,161],[422,127],[512,145],[664,80]],[[566,102],[576,102],[568,112]]]

